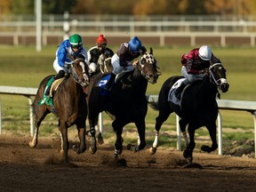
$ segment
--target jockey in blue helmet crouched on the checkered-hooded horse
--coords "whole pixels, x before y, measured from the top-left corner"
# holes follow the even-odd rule
[[[106,89],[110,90],[111,84],[114,82],[117,74],[122,71],[132,71],[133,66],[136,66],[139,62],[139,60],[134,59],[138,58],[144,52],[147,52],[147,50],[141,45],[140,39],[137,36],[134,36],[129,43],[121,44],[111,59],[113,71],[106,85]]]

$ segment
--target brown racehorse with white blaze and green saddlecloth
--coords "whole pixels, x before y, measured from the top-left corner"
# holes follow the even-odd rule
[[[77,154],[83,153],[86,149],[85,144],[85,120],[87,117],[87,104],[86,94],[84,88],[89,84],[88,66],[84,59],[76,59],[68,65],[68,76],[62,83],[59,84],[58,89],[53,92],[53,105],[39,104],[40,100],[44,97],[44,89],[53,77],[46,76],[39,85],[34,101],[35,118],[35,133],[33,140],[29,142],[30,148],[35,148],[37,144],[38,129],[44,117],[53,113],[59,117],[59,131],[61,136],[61,149],[64,155],[64,163],[68,163],[68,127],[76,124],[80,145],[74,147]],[[56,80],[57,81],[57,80]]]

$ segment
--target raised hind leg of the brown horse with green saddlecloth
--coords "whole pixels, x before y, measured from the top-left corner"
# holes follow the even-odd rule
[[[35,148],[38,141],[38,130],[40,127],[40,124],[44,120],[44,117],[50,113],[47,108],[45,108],[44,105],[38,106],[37,104],[34,104],[34,113],[35,113],[35,122],[34,122],[34,136],[33,139],[29,142],[30,148]]]

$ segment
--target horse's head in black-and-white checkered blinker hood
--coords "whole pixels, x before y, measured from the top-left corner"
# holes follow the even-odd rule
[[[157,71],[157,61],[153,56],[151,47],[150,52],[145,52],[141,55],[138,68],[149,83],[156,84],[157,78],[161,74]]]

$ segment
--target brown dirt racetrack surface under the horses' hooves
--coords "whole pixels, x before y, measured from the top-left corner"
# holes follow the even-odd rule
[[[256,191],[255,158],[195,152],[191,166],[182,153],[148,148],[124,151],[113,160],[113,146],[98,145],[76,155],[69,149],[70,164],[61,164],[59,141],[0,135],[0,191]],[[89,143],[87,144],[88,148]]]

